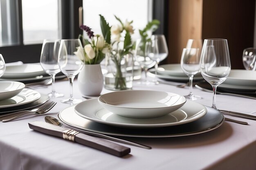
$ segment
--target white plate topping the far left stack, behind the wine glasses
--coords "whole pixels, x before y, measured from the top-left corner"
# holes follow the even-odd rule
[[[17,66],[6,66],[6,70],[4,75],[2,75],[2,78],[22,79],[44,74],[45,71],[40,64],[22,64]]]

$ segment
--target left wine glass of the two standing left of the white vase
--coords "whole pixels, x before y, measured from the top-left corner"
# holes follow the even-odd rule
[[[44,40],[41,51],[40,64],[44,71],[52,77],[52,92],[49,97],[63,97],[61,93],[56,93],[54,89],[55,75],[61,72],[58,66],[58,50],[61,40]]]

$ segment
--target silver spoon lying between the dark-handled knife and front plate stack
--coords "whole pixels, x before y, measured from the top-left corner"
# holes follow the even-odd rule
[[[55,117],[45,116],[45,121],[47,123],[49,123],[49,124],[54,124],[56,126],[61,126],[62,125],[61,127],[63,127],[63,124],[61,123],[61,121],[56,119]],[[78,130],[80,130],[80,129],[78,129]],[[138,146],[138,147],[144,148],[144,149],[151,149],[150,146],[146,146],[146,145],[142,145],[142,144],[137,144],[135,142],[126,141],[126,140],[118,139],[118,138],[115,138],[115,137],[110,137],[110,136],[103,135],[103,134],[100,134],[100,133],[89,132],[89,131],[86,131],[86,130],[81,130],[81,131],[83,131],[83,133],[86,134],[86,135],[92,135],[92,136],[97,136],[97,137],[101,137],[101,138],[112,140],[112,141],[118,141],[118,142],[121,142],[121,143],[124,143],[124,144],[130,144],[130,145]]]

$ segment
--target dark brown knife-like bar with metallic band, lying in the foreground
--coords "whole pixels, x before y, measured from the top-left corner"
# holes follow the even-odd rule
[[[74,141],[76,143],[110,153],[117,157],[123,157],[124,155],[130,153],[130,148],[126,146],[121,146],[111,141],[85,135],[83,133],[76,132],[75,130],[48,124],[44,121],[33,121],[29,123],[29,128],[48,135]]]

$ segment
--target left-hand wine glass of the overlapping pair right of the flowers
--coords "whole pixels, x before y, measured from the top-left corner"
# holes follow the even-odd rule
[[[141,84],[150,84],[147,78],[148,68],[151,68],[155,65],[155,61],[151,60],[145,53],[146,42],[141,39],[136,41],[135,47],[135,60],[139,63],[141,68],[145,72],[145,81],[141,80]]]

